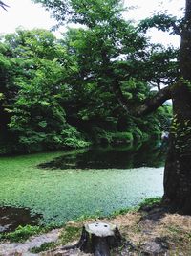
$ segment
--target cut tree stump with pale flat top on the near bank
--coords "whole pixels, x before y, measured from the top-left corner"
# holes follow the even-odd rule
[[[110,249],[120,246],[121,235],[117,225],[95,222],[83,226],[82,234],[76,247],[95,256],[110,256]]]

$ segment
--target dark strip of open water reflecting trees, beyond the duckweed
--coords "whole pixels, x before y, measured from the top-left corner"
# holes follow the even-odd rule
[[[52,169],[130,169],[138,167],[161,167],[164,165],[165,151],[159,144],[146,143],[131,148],[93,148],[55,158],[41,164]]]

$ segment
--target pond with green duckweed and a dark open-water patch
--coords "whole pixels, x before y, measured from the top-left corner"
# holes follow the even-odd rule
[[[144,147],[1,157],[0,206],[31,209],[41,224],[59,224],[161,196],[163,153]]]

